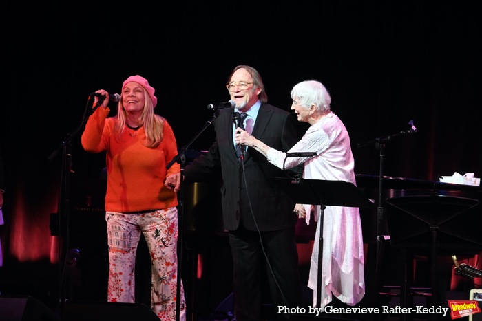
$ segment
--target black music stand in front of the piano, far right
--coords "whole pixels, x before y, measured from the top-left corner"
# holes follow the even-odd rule
[[[476,199],[445,195],[415,195],[386,199],[390,243],[393,247],[430,253],[432,304],[439,301],[437,252],[476,254],[482,249],[482,215]],[[456,253],[457,252],[457,253]],[[402,307],[408,304],[408,277],[400,287]]]

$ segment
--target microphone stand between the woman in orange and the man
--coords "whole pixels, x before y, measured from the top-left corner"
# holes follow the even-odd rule
[[[184,147],[181,148],[180,152],[178,155],[174,156],[173,159],[171,159],[171,162],[166,165],[166,168],[169,169],[174,163],[179,163],[181,166],[181,171],[180,171],[180,189],[179,189],[179,194],[178,194],[178,244],[180,243],[182,245],[182,239],[183,239],[183,234],[184,234],[184,228],[183,228],[183,222],[184,222],[184,166],[186,162],[186,157],[185,153],[187,151],[187,148],[191,146],[191,144],[198,139],[198,137],[204,132],[211,124],[218,118],[219,115],[219,110],[216,109],[214,111],[213,117],[208,120],[204,126],[202,126],[202,129],[198,131],[198,133],[185,145]],[[180,241],[180,242],[179,242]],[[178,283],[177,283],[177,288],[176,288],[176,321],[179,321],[179,313],[180,313],[180,286],[181,286],[181,279],[180,275],[182,272],[182,246],[178,246]],[[194,319],[193,319],[194,320]]]

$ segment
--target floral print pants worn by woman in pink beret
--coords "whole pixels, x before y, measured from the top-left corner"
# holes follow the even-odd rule
[[[144,235],[151,256],[151,309],[160,320],[176,320],[178,276],[178,210],[167,208],[139,214],[106,212],[109,243],[109,302],[135,302],[136,251]],[[186,319],[180,285],[180,321]]]

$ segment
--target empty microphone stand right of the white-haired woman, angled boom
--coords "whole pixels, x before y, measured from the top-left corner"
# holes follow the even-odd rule
[[[400,131],[399,133],[395,133],[393,135],[388,136],[381,136],[375,138],[375,140],[370,140],[366,142],[362,142],[357,144],[357,148],[362,148],[365,146],[375,144],[375,148],[379,150],[379,176],[378,176],[378,206],[377,206],[377,254],[375,259],[375,272],[378,275],[379,272],[379,265],[381,261],[381,241],[386,241],[388,239],[387,235],[382,234],[381,225],[384,219],[384,207],[382,201],[382,194],[383,194],[383,173],[384,173],[384,158],[385,158],[385,145],[390,140],[394,140],[395,138],[412,135],[413,133],[417,133],[417,129],[413,125],[413,120],[408,122],[409,129],[406,131]],[[378,284],[375,278],[375,291],[378,289]]]

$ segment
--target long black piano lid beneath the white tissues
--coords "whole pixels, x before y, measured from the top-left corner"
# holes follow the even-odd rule
[[[359,188],[378,188],[378,175],[355,175],[357,187]],[[426,181],[423,179],[410,179],[406,177],[383,176],[381,180],[382,188],[404,190],[404,189],[426,189],[426,190],[461,190],[467,192],[482,192],[481,186],[443,183],[441,181]]]

